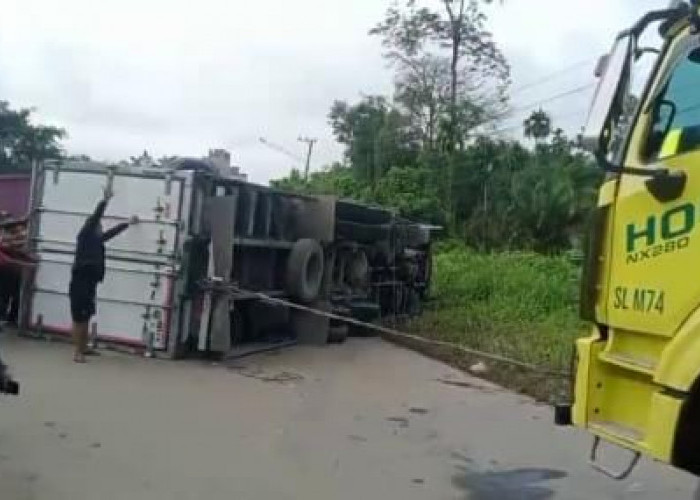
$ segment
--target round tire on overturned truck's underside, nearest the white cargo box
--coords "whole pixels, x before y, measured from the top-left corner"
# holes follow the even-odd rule
[[[318,298],[322,281],[321,245],[312,239],[298,240],[287,258],[287,293],[301,302],[313,302]]]

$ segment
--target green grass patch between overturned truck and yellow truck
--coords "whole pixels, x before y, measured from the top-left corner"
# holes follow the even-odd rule
[[[574,339],[585,328],[576,305],[577,275],[565,256],[443,250],[435,257],[432,299],[408,328],[565,371]]]

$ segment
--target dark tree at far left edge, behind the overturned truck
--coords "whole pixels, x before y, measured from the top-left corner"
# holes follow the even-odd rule
[[[0,171],[29,168],[32,161],[59,159],[63,129],[31,122],[33,109],[13,110],[0,101]]]

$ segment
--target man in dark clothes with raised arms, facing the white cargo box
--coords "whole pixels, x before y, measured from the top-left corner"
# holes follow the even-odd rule
[[[97,204],[95,212],[87,218],[77,237],[68,291],[75,342],[73,360],[76,363],[84,363],[86,354],[94,354],[87,346],[88,327],[90,318],[96,312],[97,284],[101,283],[105,277],[105,243],[121,234],[130,225],[139,222],[134,216],[128,223],[121,223],[109,231],[102,232],[102,216],[113,194],[111,189],[105,189],[102,201]]]

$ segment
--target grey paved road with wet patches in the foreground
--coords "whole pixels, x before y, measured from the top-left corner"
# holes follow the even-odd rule
[[[644,462],[625,482],[551,410],[378,339],[233,366],[2,339],[0,499],[692,498]],[[457,382],[455,384],[454,382]],[[619,459],[611,455],[611,460]]]

